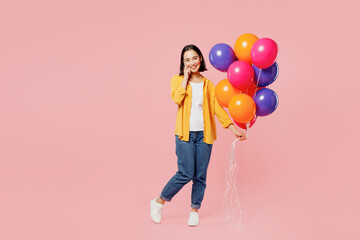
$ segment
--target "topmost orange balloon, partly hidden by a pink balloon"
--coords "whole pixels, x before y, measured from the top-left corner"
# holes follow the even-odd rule
[[[238,37],[235,42],[235,55],[239,60],[252,64],[251,48],[259,38],[252,33],[245,33]]]

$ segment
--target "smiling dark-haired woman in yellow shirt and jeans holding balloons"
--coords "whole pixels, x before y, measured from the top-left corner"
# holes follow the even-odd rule
[[[170,202],[192,180],[192,210],[188,225],[199,224],[198,210],[204,198],[207,168],[213,141],[216,140],[215,115],[220,124],[230,129],[235,137],[246,139],[216,100],[214,84],[200,74],[206,70],[200,49],[195,45],[185,46],[181,52],[180,73],[170,81],[171,98],[178,105],[175,126],[178,171],[165,185],[160,196],[150,202],[150,216],[155,223],[161,222],[165,201]]]

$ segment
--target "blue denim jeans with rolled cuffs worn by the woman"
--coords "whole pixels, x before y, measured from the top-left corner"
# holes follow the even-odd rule
[[[212,144],[204,142],[204,131],[190,131],[188,142],[175,135],[175,143],[178,171],[165,185],[160,197],[170,202],[192,180],[191,207],[199,209],[204,198]]]

